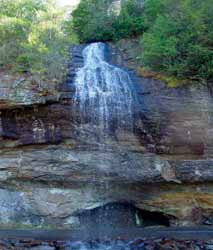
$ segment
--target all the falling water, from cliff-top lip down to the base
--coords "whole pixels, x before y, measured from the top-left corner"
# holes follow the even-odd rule
[[[109,157],[107,151],[111,149],[109,143],[117,146],[119,133],[123,132],[123,134],[131,134],[132,136],[134,134],[132,80],[127,71],[107,62],[106,48],[104,43],[99,42],[92,43],[83,50],[84,65],[77,71],[74,81],[74,110],[78,139],[83,145],[85,142],[98,144],[98,152],[94,152],[93,155],[96,154],[96,160],[98,159],[100,168],[102,168],[100,173],[103,175],[98,176],[96,173],[91,184],[96,181],[101,182],[102,188],[106,190],[105,193],[109,190],[106,178],[108,169],[104,169],[105,162],[108,162],[107,157]],[[103,182],[102,179],[104,179]],[[84,225],[84,223],[82,224]],[[85,228],[87,233],[88,229]],[[80,242],[70,245],[70,249],[78,250],[112,250],[115,248],[129,249],[127,244],[122,242],[95,245]]]

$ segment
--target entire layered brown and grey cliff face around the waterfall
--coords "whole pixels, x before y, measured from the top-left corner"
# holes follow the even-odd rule
[[[85,211],[112,203],[159,212],[171,224],[213,223],[210,90],[140,78],[134,53],[109,45],[109,61],[129,70],[137,91],[135,133],[118,132],[107,148],[82,143],[73,81],[83,48],[71,49],[60,86],[47,83],[41,91],[32,79],[1,75],[1,227],[76,228],[87,223]]]

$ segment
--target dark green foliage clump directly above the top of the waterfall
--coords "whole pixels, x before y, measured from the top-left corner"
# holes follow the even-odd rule
[[[118,15],[111,4],[112,0],[81,0],[72,13],[70,23],[81,42],[119,40],[143,31],[141,8],[137,1],[125,2]]]

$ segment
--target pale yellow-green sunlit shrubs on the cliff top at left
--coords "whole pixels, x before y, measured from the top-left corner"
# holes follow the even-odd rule
[[[62,79],[75,40],[65,32],[64,16],[51,0],[0,0],[0,65]]]

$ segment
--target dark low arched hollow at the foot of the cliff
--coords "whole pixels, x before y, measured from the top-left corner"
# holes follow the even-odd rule
[[[113,202],[78,214],[83,227],[149,227],[170,226],[171,216],[138,209],[131,203]],[[173,218],[174,219],[174,218]]]

